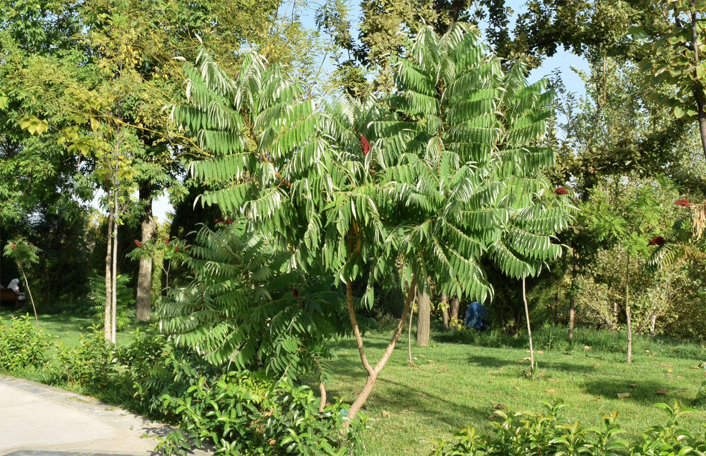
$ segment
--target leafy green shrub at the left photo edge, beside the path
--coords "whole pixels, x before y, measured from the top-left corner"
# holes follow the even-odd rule
[[[37,329],[29,314],[9,320],[0,317],[0,371],[40,366],[49,345],[51,336]]]

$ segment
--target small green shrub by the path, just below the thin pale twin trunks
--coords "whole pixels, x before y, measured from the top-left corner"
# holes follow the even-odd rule
[[[76,347],[59,345],[59,376],[69,383],[91,390],[104,388],[116,373],[117,364],[113,344],[106,340],[102,328],[91,326],[92,332],[80,335]]]

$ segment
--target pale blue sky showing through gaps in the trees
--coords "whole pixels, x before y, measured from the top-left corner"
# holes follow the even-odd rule
[[[301,8],[299,10],[299,12],[301,13],[301,21],[305,27],[316,28],[313,16],[319,4],[321,3],[309,2],[305,0],[303,6],[299,6],[299,8]],[[517,14],[522,13],[522,11],[526,11],[525,0],[508,0],[507,4],[508,6],[510,6],[510,8],[513,8],[514,11],[513,18],[510,19],[510,30],[512,30],[514,18],[517,17]],[[357,0],[351,0],[349,5],[352,8],[352,23],[354,27],[357,28],[357,19],[360,16],[359,2]],[[291,11],[291,8],[292,5],[290,4],[288,11]],[[353,35],[357,35],[357,31],[354,32]],[[324,65],[328,66],[327,63],[328,62],[325,62]],[[558,49],[556,54],[554,54],[554,56],[544,59],[542,66],[539,66],[539,68],[535,68],[534,70],[532,70],[529,78],[530,82],[534,82],[541,78],[544,78],[545,76],[548,76],[553,70],[558,68],[567,90],[570,92],[576,92],[578,96],[583,95],[585,94],[585,87],[579,76],[571,69],[572,66],[585,71],[588,71],[589,69],[588,62],[585,60],[585,58],[575,56],[570,51],[564,51],[560,48]],[[155,200],[153,212],[155,216],[159,218],[160,221],[166,221],[167,212],[171,210],[172,207],[169,204],[166,195]]]

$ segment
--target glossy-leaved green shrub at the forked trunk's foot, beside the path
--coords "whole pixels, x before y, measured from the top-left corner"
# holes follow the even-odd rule
[[[359,442],[366,418],[347,428],[340,402],[318,412],[319,400],[306,386],[277,383],[247,371],[229,372],[215,383],[201,378],[164,406],[181,416],[181,426],[157,448],[171,454],[201,447],[203,440],[224,455],[345,455]]]

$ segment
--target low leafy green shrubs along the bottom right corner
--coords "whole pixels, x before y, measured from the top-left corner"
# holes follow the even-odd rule
[[[541,412],[496,411],[491,417],[494,435],[484,435],[468,427],[451,440],[428,440],[434,445],[430,456],[525,456],[525,455],[602,455],[657,456],[704,455],[706,435],[695,435],[680,429],[678,419],[694,409],[655,404],[669,415],[664,425],[651,426],[640,434],[640,440],[628,443],[618,436],[624,433],[617,424],[617,413],[605,414],[602,426],[582,427],[559,414],[562,402],[539,401]],[[705,424],[706,426],[706,424]]]

